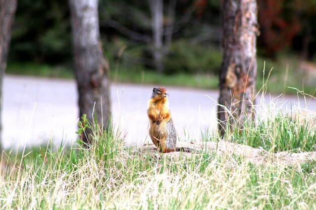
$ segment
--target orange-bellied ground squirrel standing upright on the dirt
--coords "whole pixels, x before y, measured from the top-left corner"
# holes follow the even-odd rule
[[[149,135],[160,152],[192,152],[189,148],[176,148],[177,131],[171,118],[166,88],[154,88],[148,101]]]

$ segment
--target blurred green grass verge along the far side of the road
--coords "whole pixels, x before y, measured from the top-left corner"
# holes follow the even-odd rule
[[[180,49],[182,42],[175,43],[176,54],[179,53],[180,58],[168,61],[167,64],[172,68],[179,68],[181,71],[175,69],[170,70],[174,74],[159,75],[154,71],[146,69],[141,64],[133,63],[135,57],[130,54],[141,56],[140,49],[134,48],[126,52],[128,56],[124,56],[125,51],[118,56],[122,56],[119,60],[115,60],[113,55],[110,56],[111,65],[111,80],[118,83],[135,83],[135,84],[156,84],[163,86],[179,86],[203,89],[218,89],[219,78],[218,71],[220,68],[219,61],[221,59],[221,51],[213,48],[208,49],[208,58],[199,59],[201,61],[201,69],[199,69],[199,62],[193,62],[198,57],[203,56],[203,51],[200,47],[188,47],[184,52]],[[178,47],[178,48],[177,48]],[[183,47],[184,48],[184,47]],[[118,49],[113,49],[118,50]],[[136,52],[134,52],[136,51]],[[186,53],[190,52],[190,53]],[[109,54],[109,52],[108,52]],[[127,57],[127,58],[125,58]],[[216,60],[216,62],[214,62]],[[185,62],[190,63],[185,64]],[[291,54],[281,54],[277,60],[257,57],[257,81],[256,88],[260,90],[262,81],[265,81],[269,75],[269,80],[266,84],[267,91],[275,94],[296,94],[296,89],[303,90],[304,93],[314,95],[316,88],[313,80],[308,80],[309,76],[302,71],[298,71],[299,60],[297,56]],[[187,66],[187,67],[184,67]],[[207,71],[209,66],[209,72]],[[185,69],[188,68],[188,69]],[[265,72],[264,72],[264,69]],[[30,75],[41,77],[54,78],[74,78],[72,68],[70,66],[51,66],[47,64],[35,63],[8,63],[8,74],[15,75]]]

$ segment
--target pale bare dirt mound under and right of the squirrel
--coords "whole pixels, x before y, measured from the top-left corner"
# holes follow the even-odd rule
[[[252,148],[246,145],[240,145],[225,141],[220,142],[178,142],[177,147],[186,147],[199,151],[205,151],[208,153],[218,152],[222,154],[239,155],[249,162],[256,165],[265,165],[267,163],[280,163],[283,165],[295,165],[306,162],[308,160],[316,160],[316,152],[303,152],[303,153],[269,153],[262,149]],[[138,148],[139,154],[152,154],[155,155],[156,148],[154,145],[143,145]],[[182,153],[182,157],[189,157],[197,153]],[[163,154],[163,156],[179,157],[180,152],[172,152]]]

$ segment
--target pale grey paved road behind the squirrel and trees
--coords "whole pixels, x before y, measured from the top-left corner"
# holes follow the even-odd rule
[[[126,133],[127,144],[143,144],[147,136],[147,100],[153,86],[112,84],[116,128]],[[200,139],[201,130],[216,128],[218,92],[167,87],[170,108],[181,139]],[[78,121],[76,84],[71,80],[6,76],[4,78],[3,144],[27,146],[73,142]],[[275,96],[265,96],[271,101]],[[300,105],[316,112],[316,100],[279,97],[277,106]],[[306,105],[306,106],[305,106]],[[264,111],[265,109],[260,109]]]

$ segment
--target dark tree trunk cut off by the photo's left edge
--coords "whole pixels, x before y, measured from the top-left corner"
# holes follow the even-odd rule
[[[11,40],[11,28],[17,9],[17,0],[0,0],[0,119],[2,119],[3,78]],[[2,151],[2,123],[0,122],[0,151]]]

